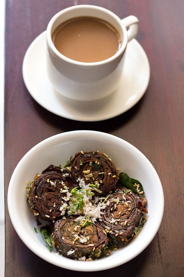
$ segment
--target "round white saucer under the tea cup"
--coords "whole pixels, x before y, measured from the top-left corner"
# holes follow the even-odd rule
[[[128,43],[120,85],[101,100],[81,102],[62,96],[51,86],[46,72],[46,31],[29,46],[23,61],[24,83],[41,106],[48,111],[78,121],[100,121],[115,117],[133,107],[145,93],[150,80],[147,56],[133,39]]]

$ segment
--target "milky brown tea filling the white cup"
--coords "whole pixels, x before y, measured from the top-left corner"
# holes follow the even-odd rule
[[[61,54],[85,63],[106,60],[122,45],[118,31],[95,17],[77,17],[62,23],[54,30],[52,41]]]

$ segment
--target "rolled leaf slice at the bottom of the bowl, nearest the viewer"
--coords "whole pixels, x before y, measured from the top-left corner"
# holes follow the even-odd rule
[[[85,261],[110,254],[108,237],[101,226],[89,224],[82,227],[77,217],[58,219],[54,226],[54,242],[57,252],[68,258]]]

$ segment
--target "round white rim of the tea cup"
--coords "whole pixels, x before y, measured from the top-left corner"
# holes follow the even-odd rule
[[[90,8],[90,9],[98,9],[101,10],[102,12],[106,12],[108,13],[110,16],[112,16],[119,24],[120,28],[122,29],[122,34],[123,34],[123,43],[122,46],[120,47],[120,50],[115,53],[112,57],[102,60],[102,61],[97,61],[97,62],[81,62],[81,61],[75,61],[72,60],[66,56],[64,56],[63,54],[61,54],[54,46],[52,39],[51,39],[51,28],[53,26],[53,23],[55,22],[55,20],[57,20],[58,17],[60,17],[62,14],[64,14],[65,12],[68,12],[70,10],[75,10],[75,9],[80,9],[80,8]],[[71,6],[68,8],[65,8],[59,12],[57,12],[49,21],[48,25],[47,25],[47,30],[46,30],[46,37],[47,37],[47,46],[52,50],[52,52],[60,59],[68,62],[68,63],[72,63],[72,64],[76,64],[76,65],[84,65],[84,66],[91,66],[91,65],[102,65],[105,63],[109,63],[113,60],[115,60],[116,58],[118,58],[120,55],[122,55],[122,53],[124,52],[124,50],[126,49],[127,43],[128,43],[128,38],[127,38],[127,30],[126,28],[122,25],[121,23],[121,19],[114,14],[113,12],[111,12],[110,10],[97,6],[97,5],[76,5],[76,6]]]

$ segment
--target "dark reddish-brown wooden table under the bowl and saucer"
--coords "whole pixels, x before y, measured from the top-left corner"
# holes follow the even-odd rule
[[[33,100],[22,78],[30,43],[50,18],[74,4],[108,8],[140,20],[138,42],[150,61],[143,98],[129,111],[103,122],[80,122],[50,113]],[[7,0],[5,29],[5,276],[184,276],[184,32],[182,0]],[[97,130],[137,147],[162,182],[165,208],[158,233],[138,257],[102,272],[73,272],[37,257],[20,240],[7,208],[7,190],[19,160],[34,145],[70,130]],[[156,203],[155,203],[156,204]]]

